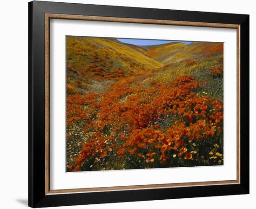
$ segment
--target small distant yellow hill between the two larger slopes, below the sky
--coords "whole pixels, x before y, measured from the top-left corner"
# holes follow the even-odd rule
[[[169,43],[160,45],[158,47],[153,47],[147,51],[147,54],[150,58],[160,62],[165,63],[167,59],[173,56],[179,49],[187,46],[183,43]]]

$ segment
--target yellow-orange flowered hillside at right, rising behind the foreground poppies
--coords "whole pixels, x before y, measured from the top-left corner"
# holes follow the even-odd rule
[[[217,69],[217,72],[216,72]],[[169,83],[182,75],[193,75],[203,85],[198,93],[211,98],[223,99],[223,53],[199,56],[164,65],[157,69],[143,83]],[[204,93],[203,93],[204,92]]]

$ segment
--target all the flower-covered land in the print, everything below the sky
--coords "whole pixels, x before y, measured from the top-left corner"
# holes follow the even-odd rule
[[[66,50],[67,172],[223,165],[223,43]]]

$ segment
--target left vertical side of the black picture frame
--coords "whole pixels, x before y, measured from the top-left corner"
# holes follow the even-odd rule
[[[28,206],[39,206],[45,199],[45,8],[39,1],[29,7],[29,166]],[[50,2],[49,2],[50,3]],[[43,36],[41,35],[43,34]],[[43,59],[42,59],[43,58]],[[46,205],[45,205],[46,206]]]

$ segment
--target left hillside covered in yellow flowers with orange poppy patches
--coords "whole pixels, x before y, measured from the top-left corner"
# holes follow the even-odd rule
[[[112,38],[67,37],[67,93],[101,91],[162,64]]]

